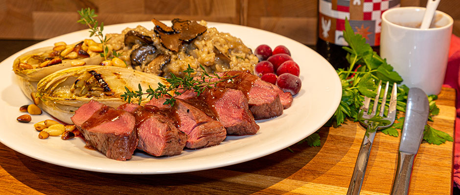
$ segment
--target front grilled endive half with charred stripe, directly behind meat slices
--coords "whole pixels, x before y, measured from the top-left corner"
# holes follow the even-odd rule
[[[126,103],[121,95],[125,87],[137,91],[156,89],[158,83],[168,86],[165,78],[115,66],[78,66],[55,72],[37,84],[39,106],[48,114],[72,124],[70,117],[90,100],[117,107]],[[148,102],[144,95],[141,104]]]

